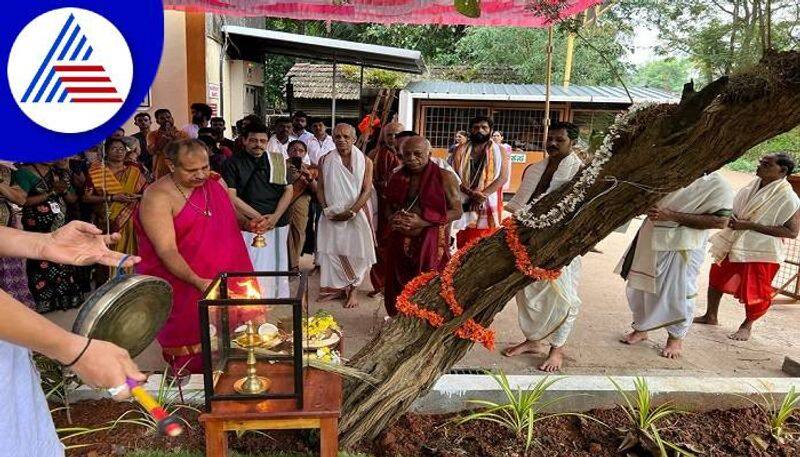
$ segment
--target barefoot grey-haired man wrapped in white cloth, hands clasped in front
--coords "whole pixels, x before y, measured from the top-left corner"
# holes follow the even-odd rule
[[[320,160],[317,181],[317,200],[323,208],[317,233],[320,299],[344,298],[345,308],[358,306],[356,288],[375,263],[368,205],[372,161],[354,146],[355,141],[355,128],[336,126],[336,150]]]

